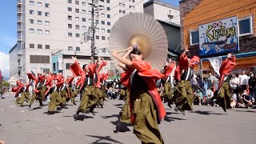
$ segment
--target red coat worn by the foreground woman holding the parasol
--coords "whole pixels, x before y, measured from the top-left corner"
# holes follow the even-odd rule
[[[132,61],[132,66],[134,69],[138,71],[138,75],[143,78],[143,80],[146,82],[148,93],[150,94],[150,97],[153,99],[155,106],[157,106],[158,109],[158,120],[159,122],[162,121],[162,119],[166,116],[166,110],[162,104],[162,100],[160,98],[160,94],[158,93],[158,90],[155,85],[155,79],[164,78],[164,75],[161,74],[157,70],[151,70],[150,63],[143,62],[143,61]],[[134,69],[127,70],[126,72],[121,74],[121,82],[122,85],[126,86],[128,90],[130,91],[130,74],[133,73]],[[134,123],[134,114],[132,112],[134,105],[134,99],[132,96],[130,96],[130,110],[131,110],[131,122]]]

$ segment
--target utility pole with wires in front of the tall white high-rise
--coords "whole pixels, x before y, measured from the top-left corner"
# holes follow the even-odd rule
[[[91,10],[91,25],[90,28],[88,29],[88,31],[84,34],[84,38],[82,39],[81,44],[87,41],[91,41],[90,44],[90,53],[91,53],[91,57],[94,58],[94,62],[96,60],[96,47],[95,47],[95,29],[98,25],[98,11],[99,10],[103,10],[101,7],[102,6],[98,6],[98,0],[92,0],[92,3],[89,3],[89,5],[91,5],[92,10]]]

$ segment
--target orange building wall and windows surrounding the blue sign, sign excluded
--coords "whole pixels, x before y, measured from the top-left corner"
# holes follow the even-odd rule
[[[246,69],[255,72],[256,66],[256,1],[254,0],[182,0],[180,1],[181,14],[181,39],[182,47],[189,46],[190,52],[199,55],[200,58],[214,58],[222,56],[226,58],[227,52],[218,50],[216,53],[202,55],[202,44],[199,42],[202,35],[202,26],[210,22],[217,22],[222,26],[226,26],[226,22],[222,20],[226,18],[236,18],[233,22],[237,26],[236,37],[238,40],[238,50],[231,50],[232,54],[237,57],[236,70]],[[220,23],[218,23],[220,22]],[[216,32],[216,31],[215,31]],[[201,34],[200,34],[201,33]],[[220,31],[219,34],[222,34]],[[218,30],[217,34],[218,35]],[[232,35],[232,34],[230,34]],[[230,35],[226,35],[226,42],[231,41]],[[225,38],[225,37],[224,37]],[[233,39],[234,40],[234,39]],[[232,41],[233,41],[232,40]],[[218,42],[225,42],[219,40]],[[210,42],[205,42],[208,44]],[[213,42],[211,42],[212,44]],[[215,43],[214,43],[215,44]],[[214,45],[213,44],[213,45]],[[223,43],[222,43],[223,44]],[[217,44],[216,44],[217,45]],[[222,46],[225,47],[225,44]],[[226,45],[227,46],[227,45]],[[226,49],[225,47],[225,50]],[[208,61],[203,61],[203,70],[212,70]]]

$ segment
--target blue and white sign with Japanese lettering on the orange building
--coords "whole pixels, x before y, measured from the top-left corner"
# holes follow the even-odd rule
[[[198,27],[200,56],[239,50],[237,16]]]

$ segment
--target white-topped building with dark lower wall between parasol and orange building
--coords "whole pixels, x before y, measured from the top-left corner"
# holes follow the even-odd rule
[[[180,13],[178,6],[150,0],[144,3],[144,13],[150,14],[162,25],[168,40],[168,56],[178,58],[181,52]]]

